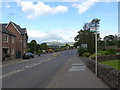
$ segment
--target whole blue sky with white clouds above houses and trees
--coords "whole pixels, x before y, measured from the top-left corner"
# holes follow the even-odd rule
[[[107,0],[105,0],[107,1]],[[112,1],[112,0],[111,0]],[[27,28],[29,42],[74,42],[84,23],[100,21],[100,37],[118,34],[118,2],[84,0],[82,2],[36,2],[15,0],[0,2],[0,22],[13,21]],[[115,1],[115,0],[114,0]],[[11,17],[10,17],[10,14]]]

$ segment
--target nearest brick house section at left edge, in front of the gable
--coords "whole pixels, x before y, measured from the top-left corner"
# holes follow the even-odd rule
[[[15,59],[16,36],[5,28],[7,24],[0,24],[2,29],[2,60]]]

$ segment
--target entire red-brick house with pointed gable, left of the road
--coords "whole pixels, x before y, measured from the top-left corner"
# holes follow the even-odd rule
[[[5,31],[7,33],[6,36],[3,36],[2,40],[2,51],[5,54],[3,54],[3,57],[10,56],[10,59],[22,58],[23,54],[27,50],[28,35],[26,28],[21,28],[16,23],[10,21],[8,24],[2,24],[2,34]],[[7,43],[5,43],[5,40]],[[6,45],[8,45],[9,47]],[[5,47],[7,47],[7,49],[4,49]],[[8,55],[8,53],[10,55]],[[14,58],[12,57],[13,53]]]

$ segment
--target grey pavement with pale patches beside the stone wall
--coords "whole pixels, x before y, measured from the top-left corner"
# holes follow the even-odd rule
[[[72,56],[59,70],[48,88],[109,88],[86,66],[86,60]]]

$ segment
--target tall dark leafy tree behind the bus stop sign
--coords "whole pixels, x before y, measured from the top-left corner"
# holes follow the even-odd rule
[[[81,44],[87,44],[87,49],[89,53],[95,52],[95,34],[94,32],[90,32],[90,27],[99,27],[100,19],[93,19],[89,23],[85,23],[83,26],[83,30],[78,31],[78,35],[74,38],[76,41],[76,45],[81,47]],[[99,39],[99,34],[98,34]]]

